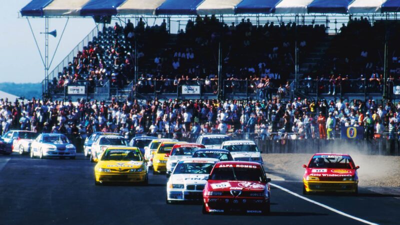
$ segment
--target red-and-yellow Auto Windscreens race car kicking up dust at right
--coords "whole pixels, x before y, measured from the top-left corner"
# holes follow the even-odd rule
[[[358,193],[357,169],[348,154],[316,153],[308,165],[303,165],[303,193],[352,192]]]

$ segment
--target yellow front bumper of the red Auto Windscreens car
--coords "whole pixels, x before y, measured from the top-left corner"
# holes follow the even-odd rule
[[[356,192],[358,181],[303,180],[306,192]]]

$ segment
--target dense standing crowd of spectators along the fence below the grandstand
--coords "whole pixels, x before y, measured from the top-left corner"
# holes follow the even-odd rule
[[[332,139],[341,126],[363,126],[366,138],[388,134],[395,138],[400,123],[400,102],[374,100],[184,100],[154,99],[107,104],[80,100],[9,102],[0,99],[0,133],[10,129],[65,133],[85,137],[94,131],[160,135],[180,139],[201,133],[223,133],[262,139]]]

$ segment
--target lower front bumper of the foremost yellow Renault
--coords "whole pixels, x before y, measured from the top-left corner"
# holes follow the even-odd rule
[[[97,182],[143,182],[146,172],[95,172]]]

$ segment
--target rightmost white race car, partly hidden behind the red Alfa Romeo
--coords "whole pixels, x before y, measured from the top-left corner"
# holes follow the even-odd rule
[[[257,144],[252,140],[223,141],[220,148],[228,150],[235,161],[264,163]]]

